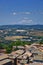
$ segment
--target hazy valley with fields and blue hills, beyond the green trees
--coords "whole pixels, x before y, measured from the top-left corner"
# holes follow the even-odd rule
[[[43,39],[43,25],[0,26],[0,42],[16,41],[17,39],[33,42]]]

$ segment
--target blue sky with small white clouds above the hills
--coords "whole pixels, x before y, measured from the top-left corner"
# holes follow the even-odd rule
[[[0,25],[43,25],[43,0],[0,0]]]

